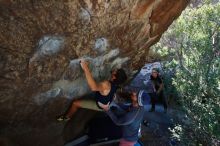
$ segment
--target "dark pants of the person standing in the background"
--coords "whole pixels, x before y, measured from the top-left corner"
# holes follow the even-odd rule
[[[157,100],[162,101],[164,109],[167,109],[167,100],[164,96],[163,91],[161,91],[159,95],[157,95],[156,93],[149,93],[149,95],[151,97],[152,109],[155,109],[155,104]]]

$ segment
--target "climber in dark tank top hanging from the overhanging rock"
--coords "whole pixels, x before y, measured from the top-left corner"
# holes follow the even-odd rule
[[[101,107],[97,104],[107,104],[112,102],[119,85],[127,80],[127,75],[123,69],[115,69],[111,71],[110,80],[105,80],[97,83],[88,67],[88,62],[81,60],[80,65],[85,73],[86,80],[93,94],[83,99],[74,100],[71,107],[66,114],[57,118],[57,121],[68,121],[74,115],[78,108],[87,108],[92,110],[101,111]]]

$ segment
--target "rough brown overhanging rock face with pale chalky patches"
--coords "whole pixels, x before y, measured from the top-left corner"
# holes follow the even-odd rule
[[[188,2],[1,0],[0,145],[70,140],[71,132],[54,119],[89,92],[79,60],[90,62],[97,80],[114,67],[139,69]]]

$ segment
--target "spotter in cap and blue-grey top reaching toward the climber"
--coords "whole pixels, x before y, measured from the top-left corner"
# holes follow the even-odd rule
[[[138,94],[132,91],[118,95],[120,97],[121,95],[126,96],[122,98],[130,98],[131,104],[116,104],[114,102],[110,105],[98,104],[116,125],[122,126],[120,146],[134,146],[138,141],[139,129],[145,113],[144,105],[150,104],[150,96],[144,91],[139,91]]]

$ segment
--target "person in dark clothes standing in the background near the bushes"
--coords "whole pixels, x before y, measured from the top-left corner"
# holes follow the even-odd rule
[[[150,83],[152,83],[151,85],[153,88],[153,92],[149,93],[149,95],[151,96],[151,103],[152,103],[150,112],[155,111],[155,104],[157,98],[162,99],[164,112],[167,112],[167,102],[163,93],[164,84],[161,77],[159,76],[159,69],[157,68],[152,69],[152,73],[150,76]]]

